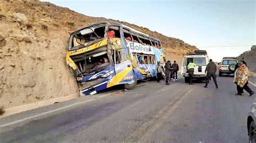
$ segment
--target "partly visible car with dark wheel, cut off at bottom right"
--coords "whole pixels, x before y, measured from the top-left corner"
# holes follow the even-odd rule
[[[251,106],[251,112],[248,113],[247,117],[247,132],[249,136],[249,142],[256,142],[256,126],[255,126],[255,115],[256,115],[256,101]]]

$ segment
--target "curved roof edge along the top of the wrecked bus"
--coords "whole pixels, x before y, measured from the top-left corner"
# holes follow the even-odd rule
[[[98,23],[93,23],[93,24],[84,26],[84,27],[82,27],[82,28],[79,28],[78,30],[73,31],[71,34],[76,33],[76,32],[78,32],[78,31],[81,31],[81,30],[83,30],[84,28],[93,27],[93,26],[95,26],[95,25],[100,25],[100,24],[113,24],[113,25],[118,25],[118,26],[121,26],[121,25],[122,25],[122,26],[125,27],[125,28],[129,28],[129,29],[130,29],[131,31],[133,31],[133,32],[136,32],[136,33],[138,33],[138,34],[145,35],[146,37],[149,37],[150,39],[154,39],[154,40],[160,41],[158,38],[153,37],[153,36],[148,35],[148,34],[145,34],[145,33],[142,33],[142,32],[140,32],[140,31],[138,31],[138,30],[135,30],[135,29],[132,28],[132,27],[126,26],[126,25],[121,24],[121,23],[118,23],[118,22],[111,22],[111,21],[110,21],[110,22],[98,22]]]

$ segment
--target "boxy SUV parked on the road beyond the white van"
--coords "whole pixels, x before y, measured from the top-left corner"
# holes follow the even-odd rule
[[[223,74],[234,74],[235,65],[237,65],[237,58],[235,57],[224,57],[219,65],[219,76],[223,76]]]

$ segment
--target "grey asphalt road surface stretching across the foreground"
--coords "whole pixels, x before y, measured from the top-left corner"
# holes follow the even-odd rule
[[[171,85],[152,81],[0,118],[0,142],[248,142],[255,97],[235,96],[233,77],[217,81],[219,89],[213,81],[208,88],[183,78]]]

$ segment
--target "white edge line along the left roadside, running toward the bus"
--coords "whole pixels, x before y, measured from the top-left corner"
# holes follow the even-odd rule
[[[143,83],[143,84],[146,84],[146,83]],[[139,87],[143,84],[139,84],[137,85],[136,87]],[[68,105],[68,106],[64,106],[62,108],[58,108],[58,109],[55,109],[55,110],[51,110],[51,111],[47,111],[47,112],[43,112],[43,113],[39,113],[38,115],[34,115],[34,116],[31,116],[31,117],[27,117],[27,118],[23,118],[23,119],[19,119],[19,120],[16,120],[16,121],[12,121],[10,123],[6,123],[6,124],[3,124],[3,125],[0,125],[0,127],[5,127],[5,126],[9,126],[9,125],[14,125],[14,124],[17,124],[17,123],[20,123],[22,121],[25,121],[25,120],[29,120],[29,119],[32,119],[32,118],[37,118],[39,116],[43,116],[43,115],[46,115],[46,114],[49,114],[49,113],[52,113],[52,112],[56,112],[56,111],[59,111],[59,110],[63,110],[63,109],[66,109],[66,108],[70,108],[72,106],[76,106],[76,105],[79,105],[79,104],[83,104],[83,103],[86,103],[86,102],[89,102],[89,101],[93,101],[95,99],[98,99],[98,98],[102,98],[102,97],[105,97],[105,96],[109,96],[109,95],[112,95],[112,94],[115,94],[117,92],[120,92],[122,90],[118,90],[118,91],[115,91],[115,92],[111,92],[109,94],[106,94],[106,95],[102,95],[102,96],[99,96],[99,97],[95,97],[95,98],[92,98],[92,99],[89,99],[89,100],[86,100],[86,101],[82,101],[82,102],[78,102],[78,103],[75,103],[75,104],[71,104],[71,105]]]

